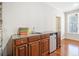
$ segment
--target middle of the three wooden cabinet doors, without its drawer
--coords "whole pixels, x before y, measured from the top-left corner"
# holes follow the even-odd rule
[[[40,41],[29,43],[29,55],[39,56],[40,55]]]

